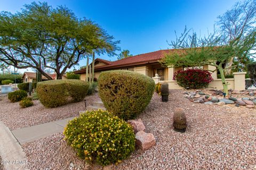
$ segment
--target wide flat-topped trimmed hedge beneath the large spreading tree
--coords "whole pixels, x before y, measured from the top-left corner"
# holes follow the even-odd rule
[[[83,100],[88,88],[89,83],[82,80],[49,80],[38,82],[36,92],[45,107],[58,107]]]

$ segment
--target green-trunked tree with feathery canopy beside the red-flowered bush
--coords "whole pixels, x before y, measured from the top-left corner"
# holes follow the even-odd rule
[[[191,32],[191,29],[185,28],[181,36],[177,37],[176,41],[171,41],[170,44],[174,49],[181,50],[178,53],[167,54],[161,63],[171,67],[212,65],[216,69],[209,71],[218,70],[220,72],[223,92],[228,95],[229,83],[225,79],[224,71],[236,65],[224,68],[222,66],[233,56],[249,54],[255,45],[255,37],[256,31],[254,30],[243,38],[238,37],[228,44],[222,44],[221,37],[215,33],[200,38],[194,31]]]

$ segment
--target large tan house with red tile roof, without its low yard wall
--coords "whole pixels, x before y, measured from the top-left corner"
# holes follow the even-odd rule
[[[173,78],[174,72],[185,68],[178,67],[173,69],[163,67],[158,61],[164,58],[167,53],[177,52],[179,53],[179,49],[158,50],[156,52],[139,54],[113,62],[97,58],[94,62],[94,77],[98,78],[102,71],[130,70],[148,75],[151,78],[155,77],[155,74],[157,73],[161,81],[170,81]],[[208,65],[203,66],[204,69],[207,69],[208,67]],[[81,74],[81,80],[85,80],[86,69],[75,71],[75,73]],[[217,78],[217,74],[216,76],[213,75],[213,77]]]

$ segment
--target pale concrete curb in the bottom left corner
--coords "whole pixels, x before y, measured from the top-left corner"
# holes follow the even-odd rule
[[[28,160],[9,128],[0,121],[0,156],[5,170],[28,169]]]

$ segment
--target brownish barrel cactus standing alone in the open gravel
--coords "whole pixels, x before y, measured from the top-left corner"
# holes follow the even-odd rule
[[[173,114],[173,126],[177,132],[185,132],[187,129],[187,119],[182,108],[175,108]]]

